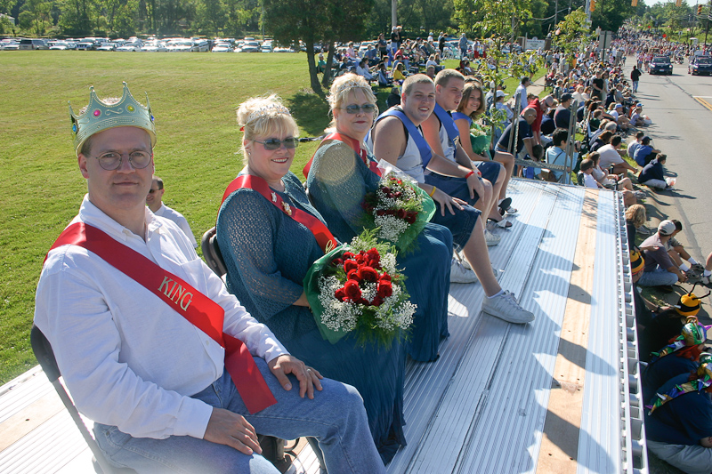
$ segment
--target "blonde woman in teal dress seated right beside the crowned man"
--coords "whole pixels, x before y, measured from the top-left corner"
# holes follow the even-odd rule
[[[405,445],[401,342],[386,349],[360,346],[353,336],[336,344],[322,339],[302,282],[332,241],[323,238],[330,237],[328,229],[289,171],[297,125],[275,96],[241,104],[238,122],[246,166],[225,193],[217,219],[228,289],[295,357],[359,390],[376,447],[389,462]]]

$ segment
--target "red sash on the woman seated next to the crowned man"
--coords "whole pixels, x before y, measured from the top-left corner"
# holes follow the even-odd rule
[[[286,213],[287,216],[309,229],[324,253],[328,253],[331,249],[336,248],[336,246],[339,245],[336,238],[331,234],[331,232],[329,232],[324,222],[320,221],[310,213],[306,213],[301,209],[288,205],[284,199],[279,196],[279,194],[270,189],[270,185],[267,184],[267,181],[264,181],[259,176],[243,174],[242,176],[238,176],[232,180],[228,186],[228,189],[225,189],[223,200],[220,205],[223,205],[225,199],[240,188],[249,188],[257,191],[273,205],[276,205],[280,211]]]

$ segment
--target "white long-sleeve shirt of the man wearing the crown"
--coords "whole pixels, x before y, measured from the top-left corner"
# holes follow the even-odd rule
[[[83,221],[182,277],[225,309],[223,331],[270,361],[285,349],[227,292],[182,230],[146,209],[146,240],[85,197]],[[212,407],[190,398],[223,374],[224,349],[158,296],[77,245],[49,253],[35,324],[53,346],[77,408],[140,438],[203,438]]]

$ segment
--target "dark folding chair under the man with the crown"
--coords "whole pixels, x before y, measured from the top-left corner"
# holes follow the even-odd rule
[[[57,394],[60,396],[61,402],[67,408],[72,420],[74,420],[75,424],[77,424],[77,428],[82,433],[82,437],[85,438],[86,444],[89,445],[89,449],[92,450],[92,454],[94,456],[92,459],[94,470],[102,474],[135,474],[136,471],[133,469],[113,467],[106,460],[104,454],[101,453],[99,445],[96,444],[96,440],[94,440],[89,430],[86,429],[84,421],[82,421],[81,416],[79,416],[77,407],[74,406],[74,402],[72,402],[72,399],[69,398],[67,390],[64,389],[64,386],[60,382],[60,368],[57,366],[57,360],[54,358],[54,351],[50,345],[50,341],[47,341],[47,338],[44,337],[44,333],[42,333],[36,325],[32,326],[32,331],[29,333],[29,341],[32,343],[32,350],[35,351],[37,362],[39,362],[39,365],[42,366],[44,374],[47,375],[47,378],[52,383],[54,390],[57,390]]]

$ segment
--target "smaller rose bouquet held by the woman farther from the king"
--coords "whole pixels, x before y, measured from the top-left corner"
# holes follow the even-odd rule
[[[435,203],[423,189],[396,170],[384,173],[375,192],[368,193],[362,207],[367,229],[376,237],[408,251],[425,224],[433,218]]]

